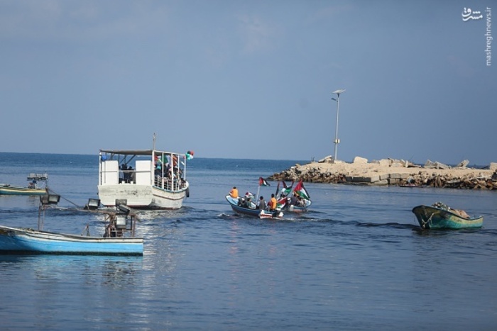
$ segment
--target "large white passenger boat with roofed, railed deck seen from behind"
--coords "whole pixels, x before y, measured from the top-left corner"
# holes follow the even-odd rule
[[[121,200],[131,208],[181,208],[189,196],[187,155],[155,149],[100,150],[100,201],[104,206]]]

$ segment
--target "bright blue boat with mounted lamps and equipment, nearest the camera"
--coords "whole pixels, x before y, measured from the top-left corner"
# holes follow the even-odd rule
[[[40,197],[38,230],[0,225],[0,254],[143,255],[143,238],[134,237],[136,215],[124,204],[119,204],[116,211],[105,212],[102,237],[89,236],[88,225],[87,235],[44,231],[46,208],[58,203],[59,198],[56,195]]]

